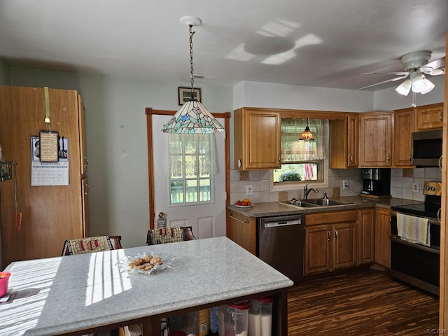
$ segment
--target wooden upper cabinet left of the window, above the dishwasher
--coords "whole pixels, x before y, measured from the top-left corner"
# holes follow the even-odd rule
[[[235,169],[281,167],[281,113],[268,109],[234,111]]]

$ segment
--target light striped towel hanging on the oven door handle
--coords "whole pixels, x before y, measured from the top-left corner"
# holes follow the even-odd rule
[[[428,218],[397,214],[398,236],[412,243],[430,245]]]

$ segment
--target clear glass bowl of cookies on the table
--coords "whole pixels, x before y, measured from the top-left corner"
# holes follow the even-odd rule
[[[144,252],[137,255],[125,255],[118,260],[120,273],[151,274],[156,270],[172,267],[173,258],[165,253]]]

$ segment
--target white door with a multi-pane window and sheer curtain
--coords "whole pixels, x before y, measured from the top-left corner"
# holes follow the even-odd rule
[[[192,226],[197,238],[225,236],[225,133],[213,141],[160,132],[169,118],[153,115],[155,215]]]

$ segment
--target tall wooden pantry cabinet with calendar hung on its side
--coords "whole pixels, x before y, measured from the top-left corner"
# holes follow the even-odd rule
[[[17,163],[16,183],[14,178],[0,182],[1,269],[15,260],[61,255],[65,239],[88,236],[83,104],[75,90],[49,89],[48,106],[51,129],[60,137],[59,158],[67,153],[68,169],[59,167],[64,173],[57,165],[36,160],[33,152],[35,137],[48,130],[44,88],[0,86],[3,160]],[[55,185],[51,174],[59,174],[65,181],[68,175],[68,181]],[[41,179],[38,183],[36,176]],[[16,221],[19,207],[21,221],[20,216]]]

